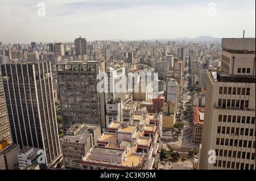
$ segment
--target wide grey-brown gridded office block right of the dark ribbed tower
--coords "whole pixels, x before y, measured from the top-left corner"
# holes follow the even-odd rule
[[[97,91],[98,73],[105,61],[76,61],[57,65],[64,130],[75,123],[105,125],[105,94]]]

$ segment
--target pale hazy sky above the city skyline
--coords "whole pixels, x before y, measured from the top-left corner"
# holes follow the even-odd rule
[[[255,0],[0,0],[0,13],[4,43],[255,37]]]

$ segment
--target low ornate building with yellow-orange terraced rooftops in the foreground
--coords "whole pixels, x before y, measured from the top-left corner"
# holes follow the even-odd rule
[[[131,113],[130,119],[112,122],[82,161],[82,169],[151,169],[160,135],[159,116],[143,111]],[[115,131],[113,132],[113,130]],[[162,129],[162,128],[161,128]]]

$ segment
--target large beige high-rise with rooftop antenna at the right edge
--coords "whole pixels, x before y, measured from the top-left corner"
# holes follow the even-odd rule
[[[221,66],[207,73],[199,169],[255,170],[255,38],[222,39]]]

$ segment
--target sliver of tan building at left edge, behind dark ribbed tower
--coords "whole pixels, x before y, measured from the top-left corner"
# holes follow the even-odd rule
[[[11,132],[7,115],[5,94],[3,92],[2,75],[0,72],[0,140],[7,140],[11,144]]]

